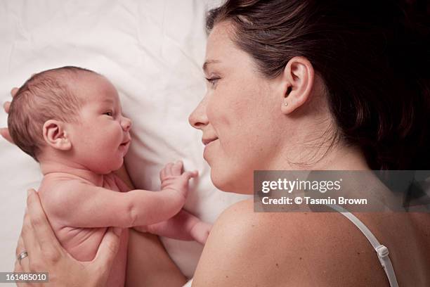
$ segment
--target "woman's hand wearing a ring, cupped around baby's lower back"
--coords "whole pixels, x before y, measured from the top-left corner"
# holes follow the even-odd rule
[[[47,283],[18,283],[18,286],[105,286],[119,248],[122,229],[108,229],[90,262],[79,262],[58,242],[34,189],[28,192],[27,211],[18,240],[14,272],[48,272]]]

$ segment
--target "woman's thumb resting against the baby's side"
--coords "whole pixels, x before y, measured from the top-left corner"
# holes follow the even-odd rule
[[[118,253],[119,243],[121,242],[122,229],[119,227],[110,227],[107,229],[105,236],[98,246],[96,257],[94,257],[91,266],[98,272],[106,270],[109,272],[110,267]]]

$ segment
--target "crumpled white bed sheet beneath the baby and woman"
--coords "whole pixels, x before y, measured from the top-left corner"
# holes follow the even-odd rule
[[[126,166],[136,187],[159,189],[159,170],[181,159],[199,179],[185,205],[214,222],[228,205],[245,196],[217,191],[202,158],[201,132],[188,115],[204,96],[202,63],[204,15],[219,0],[181,1],[16,1],[0,7],[1,102],[11,87],[34,72],[77,65],[108,77],[133,120],[133,143]],[[2,111],[0,125],[6,126]],[[25,190],[37,188],[39,167],[29,156],[0,140],[0,270],[12,271],[15,244],[25,208]],[[186,276],[192,276],[202,247],[162,238]]]

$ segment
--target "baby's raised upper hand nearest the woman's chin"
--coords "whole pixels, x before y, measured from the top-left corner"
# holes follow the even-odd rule
[[[197,170],[193,172],[183,172],[183,162],[178,160],[177,162],[169,162],[159,172],[159,179],[161,180],[161,188],[163,189],[174,189],[181,193],[186,198],[188,193],[188,181],[192,177],[197,177]]]

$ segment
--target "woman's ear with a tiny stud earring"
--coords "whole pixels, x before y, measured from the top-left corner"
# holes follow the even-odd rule
[[[311,96],[314,70],[311,62],[304,57],[294,57],[288,61],[281,75],[281,111],[287,115],[302,106]]]

